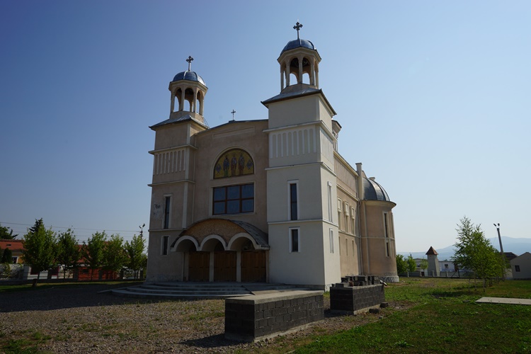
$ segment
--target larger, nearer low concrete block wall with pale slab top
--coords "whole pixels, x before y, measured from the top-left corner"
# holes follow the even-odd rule
[[[257,341],[324,319],[323,292],[291,291],[225,299],[225,338]]]

